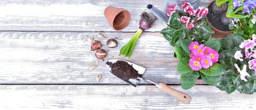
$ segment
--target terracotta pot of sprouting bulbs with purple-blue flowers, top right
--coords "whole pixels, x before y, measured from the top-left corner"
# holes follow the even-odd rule
[[[255,0],[215,0],[209,3],[207,22],[212,24],[212,29],[215,31],[213,37],[221,38],[232,33],[233,28],[230,28],[229,24],[234,24],[233,19],[247,18],[246,13],[250,13],[255,6]]]

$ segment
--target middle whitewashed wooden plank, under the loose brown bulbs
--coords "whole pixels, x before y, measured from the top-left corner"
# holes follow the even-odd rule
[[[145,78],[180,84],[180,74],[176,71],[178,60],[173,57],[174,48],[162,34],[142,33],[131,58],[118,54],[134,33],[101,34],[108,38],[95,37],[95,40],[102,42],[102,49],[108,55],[90,71],[88,67],[95,64],[95,51],[90,52],[90,44],[85,45],[82,41],[85,36],[94,36],[95,33],[0,32],[0,83],[97,84],[96,76],[102,74],[99,84],[126,84],[105,68],[107,60],[122,59],[145,67]],[[109,38],[117,38],[118,47],[107,47]]]

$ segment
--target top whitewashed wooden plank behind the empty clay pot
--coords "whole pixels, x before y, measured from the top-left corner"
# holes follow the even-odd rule
[[[211,0],[201,0],[206,7]],[[131,21],[122,32],[135,32],[147,4],[162,8],[163,0],[0,0],[0,31],[115,31],[103,12],[109,6],[125,8]],[[147,10],[148,11],[148,10]],[[164,28],[159,19],[147,31]]]

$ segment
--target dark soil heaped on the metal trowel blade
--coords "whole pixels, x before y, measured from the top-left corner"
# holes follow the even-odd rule
[[[142,77],[142,74],[138,74],[138,71],[125,61],[118,60],[116,63],[110,63],[110,66],[112,73],[122,80]]]

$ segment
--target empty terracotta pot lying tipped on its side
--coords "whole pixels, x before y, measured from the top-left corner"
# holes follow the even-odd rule
[[[114,30],[122,30],[128,25],[131,19],[129,11],[113,6],[105,8],[104,15],[108,19],[109,25],[111,25]]]

